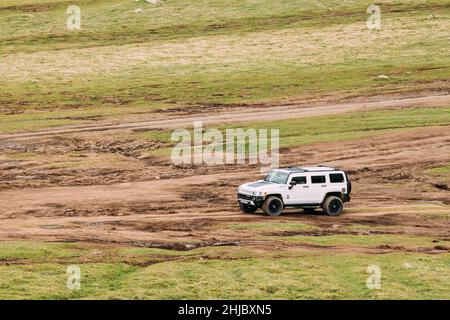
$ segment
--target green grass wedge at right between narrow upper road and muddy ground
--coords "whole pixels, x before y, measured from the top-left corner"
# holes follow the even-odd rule
[[[226,129],[279,129],[280,147],[294,147],[324,141],[349,140],[399,132],[411,128],[450,125],[450,108],[416,108],[352,112],[342,115],[316,116],[300,119],[242,123],[219,126]],[[169,131],[149,131],[136,134],[139,138],[170,143]],[[172,142],[173,143],[173,142]],[[247,147],[248,149],[248,147]],[[171,148],[161,148],[155,155],[170,155]]]

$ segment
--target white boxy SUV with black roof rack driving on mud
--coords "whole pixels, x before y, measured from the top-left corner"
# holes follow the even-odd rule
[[[343,170],[331,167],[275,169],[264,180],[238,188],[238,202],[245,213],[258,208],[269,216],[279,216],[284,208],[303,208],[307,212],[322,207],[330,216],[344,211],[350,201],[352,184]]]

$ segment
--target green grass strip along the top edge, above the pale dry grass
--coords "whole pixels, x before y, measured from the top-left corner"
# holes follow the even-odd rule
[[[383,1],[384,12],[432,10],[441,12],[445,1]],[[64,28],[68,0],[2,1],[0,36],[3,52],[49,50],[126,44],[190,38],[204,35],[245,33],[320,25],[320,21],[342,23],[365,21],[370,1],[342,3],[336,0],[193,0],[189,6],[174,0],[158,5],[144,1],[80,0],[82,30],[71,32]],[[133,10],[143,8],[145,13]],[[328,13],[324,15],[324,13]],[[319,20],[318,15],[322,18]],[[114,17],[114,19],[111,19]],[[340,20],[346,17],[348,20]]]

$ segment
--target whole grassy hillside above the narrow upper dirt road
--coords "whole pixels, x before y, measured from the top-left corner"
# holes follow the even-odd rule
[[[0,112],[65,110],[63,125],[448,88],[449,1],[381,1],[380,31],[366,28],[370,1],[81,0],[80,31],[65,27],[72,3],[0,4]],[[11,121],[33,129],[27,117]]]

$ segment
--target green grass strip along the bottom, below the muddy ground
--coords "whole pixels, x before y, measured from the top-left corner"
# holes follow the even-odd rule
[[[93,252],[106,261],[94,261]],[[133,263],[156,257],[177,259]],[[444,281],[450,276],[449,254],[261,253],[245,247],[178,253],[28,242],[0,244],[0,260],[5,258],[20,258],[22,264],[0,265],[2,299],[449,298]],[[66,268],[72,264],[81,270],[78,291],[66,287]],[[366,287],[369,265],[381,268],[381,290]]]

